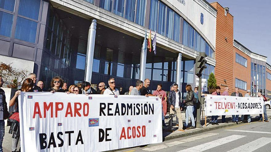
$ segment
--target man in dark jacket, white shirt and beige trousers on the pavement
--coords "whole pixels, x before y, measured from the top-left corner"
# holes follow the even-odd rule
[[[178,131],[184,131],[183,130],[183,120],[181,115],[181,93],[178,90],[178,84],[173,85],[173,90],[169,92],[168,95],[168,104],[170,107],[169,110],[169,128],[172,129],[172,122],[173,122],[173,116],[176,113],[176,115],[179,118],[179,129]]]

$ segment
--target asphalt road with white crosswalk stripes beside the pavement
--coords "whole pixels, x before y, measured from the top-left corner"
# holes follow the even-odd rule
[[[271,122],[238,126],[176,138],[119,152],[271,152]]]

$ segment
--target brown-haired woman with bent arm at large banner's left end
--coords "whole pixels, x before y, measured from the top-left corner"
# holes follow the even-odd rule
[[[9,106],[14,106],[13,108],[14,110],[10,111],[11,114],[12,112],[19,112],[18,95],[20,95],[22,91],[30,92],[33,87],[34,87],[34,81],[32,79],[27,78],[23,81],[21,89],[17,90],[13,98],[10,99]],[[20,138],[19,122],[8,120],[8,126],[10,126],[9,134],[13,134],[11,151],[15,152],[17,150],[17,145]]]

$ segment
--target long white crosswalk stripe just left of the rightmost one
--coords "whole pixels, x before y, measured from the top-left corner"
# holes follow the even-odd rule
[[[188,149],[185,149],[185,150],[180,150],[178,152],[201,152],[201,151],[204,151],[204,150],[214,148],[216,146],[226,144],[228,142],[232,142],[234,140],[237,140],[237,139],[240,139],[240,138],[243,138],[243,137],[246,137],[246,136],[231,135],[231,136],[228,136],[228,137],[225,137],[225,138],[217,139],[217,140],[207,142],[207,143],[204,143],[204,144],[201,144],[201,145],[198,145],[198,146],[194,146],[194,147],[191,147],[191,148],[188,148]]]

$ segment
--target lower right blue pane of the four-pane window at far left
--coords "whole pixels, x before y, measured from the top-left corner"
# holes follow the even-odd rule
[[[15,38],[35,43],[38,23],[25,18],[17,18]]]

